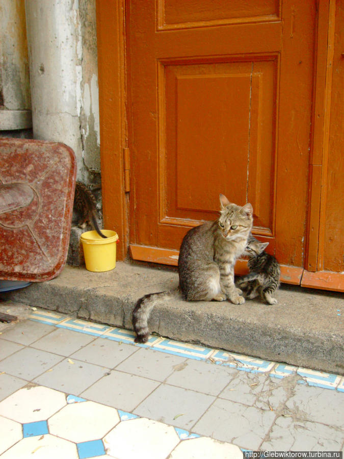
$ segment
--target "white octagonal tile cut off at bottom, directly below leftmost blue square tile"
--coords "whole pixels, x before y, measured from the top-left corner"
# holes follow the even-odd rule
[[[1,456],[1,459],[18,459],[32,457],[32,459],[79,459],[76,445],[54,435],[43,437],[28,437],[21,440]]]

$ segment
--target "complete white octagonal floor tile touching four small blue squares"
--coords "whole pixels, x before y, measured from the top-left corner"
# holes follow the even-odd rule
[[[114,408],[85,401],[66,405],[48,420],[48,425],[53,435],[81,443],[101,439],[119,421]]]

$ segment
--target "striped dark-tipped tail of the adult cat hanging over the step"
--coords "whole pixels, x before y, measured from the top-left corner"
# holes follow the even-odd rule
[[[166,290],[165,292],[148,293],[148,295],[140,298],[134,307],[133,311],[133,326],[136,333],[136,343],[146,343],[148,341],[148,319],[155,304],[162,299],[170,299],[178,295],[179,287],[174,290]]]

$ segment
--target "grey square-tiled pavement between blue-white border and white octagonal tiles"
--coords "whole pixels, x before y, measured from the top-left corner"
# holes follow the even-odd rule
[[[0,395],[28,383],[42,384],[42,378],[47,387],[61,390],[56,387],[54,369],[62,364],[56,358],[70,355],[73,362],[80,362],[77,367],[72,365],[77,371],[87,366],[91,372],[91,367],[103,365],[102,374],[105,372],[100,379],[86,382],[86,390],[77,389],[78,377],[75,395],[244,449],[341,451],[344,447],[343,392],[309,386],[296,373],[279,379],[240,365],[232,368],[216,360],[193,360],[42,325],[28,320],[33,309],[12,301],[0,303],[0,312],[18,315],[16,323],[1,325]],[[68,349],[71,344],[74,354]],[[99,362],[104,344],[101,359],[111,358],[112,364]],[[75,352],[77,346],[81,348]],[[35,352],[43,348],[44,373],[33,377]],[[19,374],[23,370],[14,365],[20,352],[32,360],[26,363],[32,366],[30,377],[29,373],[27,377]],[[63,387],[68,377],[66,373]]]

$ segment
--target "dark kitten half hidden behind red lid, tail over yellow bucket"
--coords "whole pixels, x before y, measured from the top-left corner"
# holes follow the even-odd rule
[[[80,228],[85,228],[87,222],[89,222],[94,227],[99,236],[102,238],[107,237],[102,234],[98,226],[98,214],[95,197],[93,196],[93,193],[87,188],[87,186],[82,182],[76,182],[75,184],[73,211],[78,216],[77,225]]]

